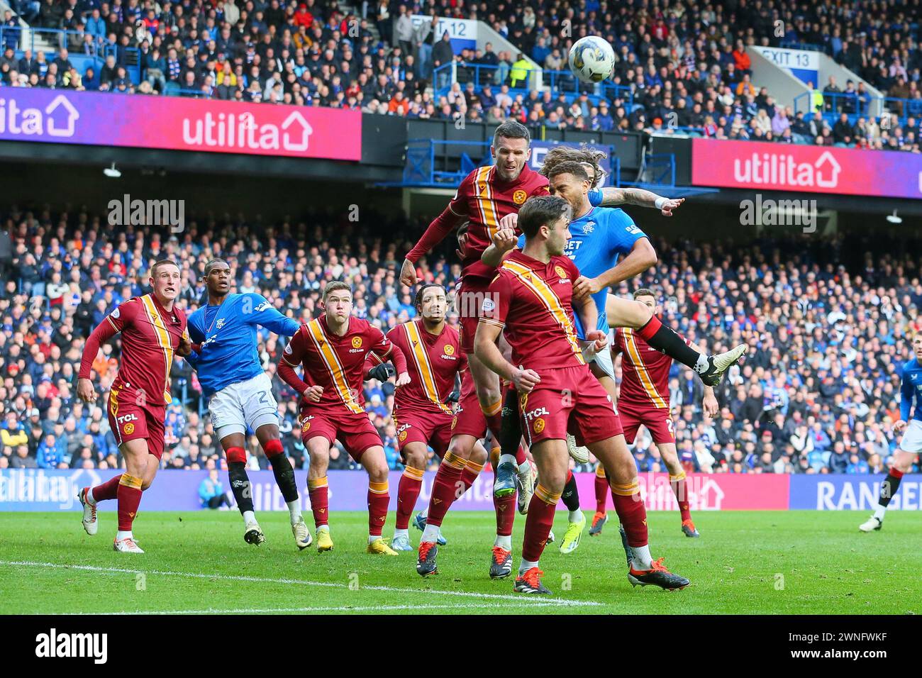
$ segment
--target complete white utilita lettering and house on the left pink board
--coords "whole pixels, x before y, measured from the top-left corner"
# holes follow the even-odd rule
[[[189,146],[213,146],[242,150],[307,150],[313,128],[295,111],[278,125],[260,124],[253,113],[210,111],[199,118],[183,118],[183,142]]]

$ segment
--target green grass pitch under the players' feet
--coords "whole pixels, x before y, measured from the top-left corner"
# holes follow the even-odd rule
[[[614,513],[609,516],[615,517]],[[310,514],[305,516],[310,524]],[[587,519],[591,514],[586,513]],[[147,553],[112,552],[114,512],[100,512],[88,537],[80,514],[0,518],[0,613],[922,613],[922,522],[893,512],[880,532],[859,533],[864,512],[699,513],[702,538],[675,513],[649,514],[651,550],[691,579],[668,593],[632,589],[617,523],[584,532],[570,555],[550,544],[541,560],[552,597],[514,594],[512,578],[487,576],[491,513],[449,514],[439,574],[416,574],[416,553],[364,553],[367,517],[336,513],[336,549],[298,552],[287,513],[262,514],[266,543],[242,539],[236,511],[141,513]],[[393,528],[388,516],[385,536]],[[516,517],[514,567],[524,519]],[[566,513],[558,511],[558,540]],[[416,545],[420,532],[410,529]]]

